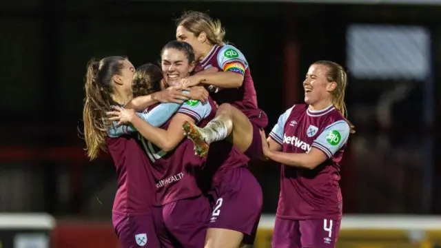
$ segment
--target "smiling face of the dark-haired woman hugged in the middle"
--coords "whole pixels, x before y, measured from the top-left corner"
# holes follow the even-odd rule
[[[161,68],[167,85],[178,85],[181,79],[189,76],[194,69],[194,63],[189,63],[185,52],[174,48],[163,50]]]

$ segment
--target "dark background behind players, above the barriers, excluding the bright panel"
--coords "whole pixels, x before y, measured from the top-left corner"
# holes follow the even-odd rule
[[[424,28],[428,76],[349,70],[347,103],[357,134],[342,165],[342,189],[347,213],[440,214],[440,7],[73,0],[0,3],[0,211],[107,218],[116,187],[112,162],[103,156],[89,163],[78,136],[86,63],[119,54],[134,65],[158,61],[162,46],[174,39],[173,20],[185,10],[220,19],[227,40],[247,56],[259,106],[270,118],[267,132],[289,105],[302,101],[311,63],[327,59],[350,69],[351,25]],[[404,68],[414,60],[410,50],[387,56],[400,57]],[[389,60],[366,57],[362,67],[382,61]],[[400,85],[408,92],[391,105],[385,125],[380,100]],[[274,213],[279,166],[256,163],[252,169],[264,189],[264,211]]]

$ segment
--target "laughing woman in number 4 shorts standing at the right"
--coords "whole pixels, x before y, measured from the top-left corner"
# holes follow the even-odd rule
[[[283,164],[272,247],[335,247],[340,161],[353,133],[345,118],[346,80],[338,63],[313,63],[303,82],[307,104],[282,114],[268,139],[261,133],[263,154]],[[287,232],[294,235],[287,238]]]

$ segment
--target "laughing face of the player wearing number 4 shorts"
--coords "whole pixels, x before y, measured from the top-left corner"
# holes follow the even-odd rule
[[[320,101],[331,99],[331,92],[336,88],[336,82],[329,82],[326,65],[313,64],[309,67],[303,88],[305,89],[305,103],[314,105]]]

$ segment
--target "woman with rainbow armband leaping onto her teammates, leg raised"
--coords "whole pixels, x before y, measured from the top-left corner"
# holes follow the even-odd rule
[[[225,29],[219,20],[208,14],[185,12],[176,24],[176,39],[189,43],[195,51],[196,72],[218,69],[218,72],[195,74],[182,81],[187,86],[207,85],[212,89],[214,101],[220,105],[216,118],[207,126],[198,129],[195,125],[185,124],[187,134],[192,135],[190,138],[201,141],[194,144],[196,152],[205,156],[210,143],[227,139],[249,158],[262,158],[259,130],[268,125],[268,118],[258,108],[245,55],[224,41]]]

